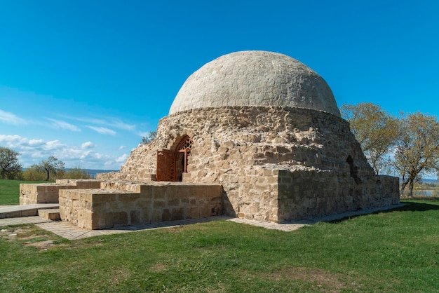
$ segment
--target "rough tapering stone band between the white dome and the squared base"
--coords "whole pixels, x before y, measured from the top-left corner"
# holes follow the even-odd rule
[[[206,164],[219,170],[241,160],[245,166],[281,163],[324,169],[333,163],[347,165],[348,156],[356,166],[373,172],[342,118],[289,107],[226,107],[162,118],[156,139],[132,151],[120,172],[100,174],[98,179],[151,180],[156,151],[173,150],[184,135],[194,140],[189,172]]]

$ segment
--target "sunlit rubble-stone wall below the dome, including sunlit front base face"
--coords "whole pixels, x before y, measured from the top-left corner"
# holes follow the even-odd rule
[[[278,222],[271,169],[337,170],[350,177],[351,156],[360,179],[374,177],[349,123],[338,116],[290,107],[224,107],[162,118],[156,139],[132,151],[120,172],[97,178],[151,180],[156,151],[174,150],[184,135],[194,145],[183,182],[221,184],[224,212],[232,216]]]

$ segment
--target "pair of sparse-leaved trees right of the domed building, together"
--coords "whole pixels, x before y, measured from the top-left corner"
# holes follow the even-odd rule
[[[342,117],[349,121],[375,172],[402,179],[401,195],[412,196],[415,182],[427,173],[438,172],[437,117],[419,112],[396,117],[372,103],[343,105]]]

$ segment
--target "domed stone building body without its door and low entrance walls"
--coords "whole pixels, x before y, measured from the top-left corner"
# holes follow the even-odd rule
[[[175,151],[185,136],[194,144],[183,182],[221,184],[231,216],[283,222],[399,202],[398,179],[374,174],[327,83],[285,55],[245,51],[205,64],[156,139],[99,178],[151,180],[156,151]]]

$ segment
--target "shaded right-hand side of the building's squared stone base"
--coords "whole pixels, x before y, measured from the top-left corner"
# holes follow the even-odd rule
[[[400,203],[398,178],[363,177],[357,184],[346,172],[276,170],[279,222],[368,210]]]

